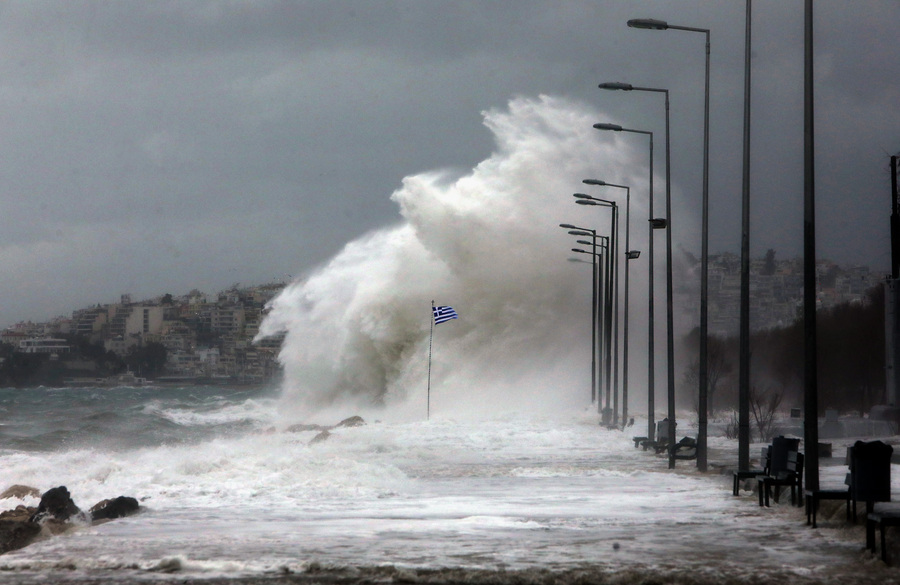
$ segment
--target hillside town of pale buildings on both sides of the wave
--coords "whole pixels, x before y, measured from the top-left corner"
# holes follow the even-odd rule
[[[685,270],[699,272],[686,257]],[[803,296],[802,259],[776,260],[774,251],[750,264],[754,330],[784,327],[798,318]],[[865,266],[817,263],[820,308],[862,302],[883,275]],[[694,283],[697,279],[688,278]],[[260,384],[280,374],[282,336],[254,343],[266,304],[285,287],[276,282],[234,285],[216,295],[192,290],[133,301],[98,304],[45,323],[22,322],[0,333],[0,385]],[[699,314],[696,290],[678,291],[685,315]],[[710,256],[709,331],[739,328],[740,257]]]

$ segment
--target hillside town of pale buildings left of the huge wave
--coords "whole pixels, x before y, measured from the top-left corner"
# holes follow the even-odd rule
[[[265,383],[279,373],[283,336],[253,339],[266,303],[284,286],[234,285],[215,296],[192,290],[142,301],[122,295],[71,318],[18,323],[0,333],[0,373],[14,385]]]

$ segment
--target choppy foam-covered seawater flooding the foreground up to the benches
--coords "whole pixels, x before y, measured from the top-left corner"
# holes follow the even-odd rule
[[[843,511],[809,529],[692,462],[669,471],[586,411],[367,422],[310,444],[274,389],[0,390],[0,490],[65,485],[82,508],[143,507],[0,556],[0,583],[900,577]],[[711,445],[721,460],[735,450]],[[0,510],[21,503],[37,501]]]

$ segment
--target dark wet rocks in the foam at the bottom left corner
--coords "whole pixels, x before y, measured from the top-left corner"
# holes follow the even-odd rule
[[[13,510],[0,512],[0,554],[78,526],[91,526],[128,516],[140,509],[135,498],[119,496],[97,502],[84,512],[72,500],[65,486],[51,488],[41,494],[37,488],[14,485],[0,493],[0,500],[16,498],[24,501],[38,497],[40,503],[36,507],[20,504]]]

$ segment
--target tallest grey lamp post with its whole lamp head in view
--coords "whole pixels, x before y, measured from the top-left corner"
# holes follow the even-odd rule
[[[707,435],[707,396],[708,396],[708,276],[709,276],[709,29],[692,26],[677,26],[663,20],[637,18],[628,21],[632,28],[649,30],[684,30],[706,35],[706,76],[703,92],[703,219],[700,251],[700,389],[699,389],[699,421],[697,429],[697,468],[706,471],[706,435]],[[669,460],[669,467],[674,466],[674,459]]]

